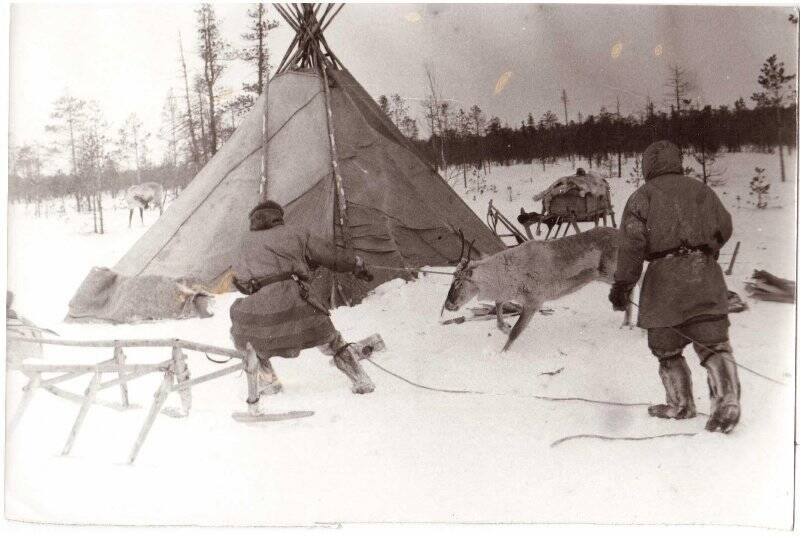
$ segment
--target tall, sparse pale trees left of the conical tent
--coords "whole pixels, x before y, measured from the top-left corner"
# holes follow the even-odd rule
[[[195,10],[198,72],[188,68],[183,38],[177,34],[180,83],[165,96],[155,136],[166,151],[158,162],[151,155],[153,133],[135,111],[112,126],[96,102],[67,90],[53,103],[45,128],[48,139],[10,148],[9,200],[35,203],[38,213],[43,201],[60,199],[64,208],[71,199],[78,212],[92,212],[95,232],[103,233],[103,193],[116,196],[130,185],[155,181],[177,195],[231,136],[269,79],[267,37],[278,22],[261,3],[247,15],[240,35],[244,46],[234,47],[223,38],[212,4]],[[222,75],[234,61],[255,70],[238,90],[222,85]]]

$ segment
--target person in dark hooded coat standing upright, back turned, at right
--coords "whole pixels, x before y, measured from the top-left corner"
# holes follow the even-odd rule
[[[648,261],[639,302],[639,326],[659,360],[666,404],[651,416],[696,415],[689,366],[690,342],[708,372],[711,411],[706,429],[728,433],[739,422],[739,378],[728,341],[728,290],[717,263],[733,232],[731,216],[707,185],[683,175],[680,150],[667,141],[642,157],[645,184],[622,215],[617,271],[609,300],[622,311]]]

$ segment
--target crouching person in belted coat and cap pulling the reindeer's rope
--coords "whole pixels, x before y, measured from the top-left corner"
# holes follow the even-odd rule
[[[353,393],[375,389],[358,363],[357,351],[345,343],[328,309],[307,285],[319,266],[372,280],[360,257],[337,250],[305,229],[285,225],[283,208],[274,201],[250,211],[250,231],[242,238],[233,266],[233,283],[248,296],[231,306],[231,335],[237,349],[249,343],[258,354],[259,395],[281,390],[269,361],[272,356],[295,358],[310,347],[333,356],[336,367],[352,381]],[[257,402],[248,400],[251,406]]]

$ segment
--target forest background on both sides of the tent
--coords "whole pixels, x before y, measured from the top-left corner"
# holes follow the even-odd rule
[[[60,200],[59,212],[69,203],[78,212],[91,212],[95,231],[103,233],[101,194],[117,197],[133,184],[154,181],[170,197],[179,195],[265,88],[273,68],[267,37],[278,26],[265,4],[251,6],[237,47],[223,38],[212,4],[201,4],[195,14],[194,51],[202,69],[187,67],[179,38],[175,56],[180,83],[165,92],[158,132],[147,132],[136,111],[122,124],[109,125],[97,103],[65,92],[52,104],[47,139],[9,147],[11,202],[34,204],[37,214],[50,210],[44,201]],[[221,81],[230,61],[244,62],[255,72],[238,90]],[[665,73],[664,109],[650,102],[635,114],[622,115],[617,102],[613,111],[570,115],[567,91],[562,90],[563,115],[562,110],[538,118],[529,113],[518,125],[487,118],[477,105],[456,110],[442,98],[430,68],[425,74],[428,92],[421,116],[400,95],[376,101],[451,184],[462,179],[466,186],[469,174],[492,165],[535,162],[546,169],[559,158],[579,159],[607,176],[621,176],[625,159],[637,158],[659,139],[680,145],[693,159],[684,164],[693,166],[703,181],[713,179],[713,163],[721,152],[739,151],[776,152],[785,180],[783,151],[796,145],[795,75],[786,74],[774,55],[754,76],[761,91],[731,107],[699,106],[692,99],[691,73],[675,65]],[[166,147],[157,160],[151,151],[153,134]]]

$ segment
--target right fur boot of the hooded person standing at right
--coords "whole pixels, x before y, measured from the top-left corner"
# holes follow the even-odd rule
[[[727,343],[701,350],[703,351],[701,365],[708,372],[711,399],[709,411],[711,417],[706,422],[706,430],[729,433],[739,423],[741,413],[739,404],[741,386],[736,362],[733,361],[733,354]]]

